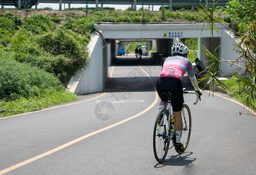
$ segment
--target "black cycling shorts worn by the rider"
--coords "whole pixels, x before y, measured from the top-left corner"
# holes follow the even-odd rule
[[[157,93],[162,101],[168,101],[168,97],[162,92],[171,92],[172,110],[181,111],[184,103],[182,82],[178,78],[161,77],[157,81]]]

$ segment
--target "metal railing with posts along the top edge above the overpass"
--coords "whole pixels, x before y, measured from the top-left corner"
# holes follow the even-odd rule
[[[21,4],[20,4],[21,2]],[[169,10],[175,10],[176,8],[194,8],[200,3],[207,8],[207,4],[211,5],[215,1],[213,0],[0,0],[0,5],[2,8],[12,8],[18,7],[19,9],[26,8],[49,8],[54,10],[63,10],[71,8],[87,8],[102,10],[104,8],[116,9],[149,9],[149,10],[159,10],[162,5],[167,6]],[[219,0],[216,5],[226,5],[229,0]],[[179,6],[179,7],[177,7]]]

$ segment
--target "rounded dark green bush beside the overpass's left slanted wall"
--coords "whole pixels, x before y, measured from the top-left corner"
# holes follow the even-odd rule
[[[87,47],[72,31],[49,32],[37,36],[36,41],[47,53],[40,55],[37,66],[57,75],[64,84],[70,80],[77,69],[87,64]]]

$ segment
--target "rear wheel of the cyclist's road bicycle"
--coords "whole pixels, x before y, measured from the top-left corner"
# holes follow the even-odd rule
[[[162,117],[163,120],[161,122]],[[164,162],[169,149],[170,132],[168,132],[168,110],[162,109],[155,120],[154,135],[153,135],[153,148],[154,155],[157,162]]]

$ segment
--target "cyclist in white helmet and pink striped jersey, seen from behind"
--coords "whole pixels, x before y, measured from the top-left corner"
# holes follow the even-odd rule
[[[178,153],[184,153],[185,146],[181,143],[181,135],[183,130],[181,111],[184,102],[182,90],[182,77],[188,72],[189,79],[195,91],[202,95],[202,90],[198,87],[195,72],[191,61],[188,60],[188,48],[184,44],[174,44],[171,47],[172,57],[165,59],[162,65],[162,71],[157,81],[157,93],[160,96],[159,110],[165,108],[168,103],[168,97],[163,92],[171,92],[171,104],[174,114],[174,127],[176,135],[175,150]]]

